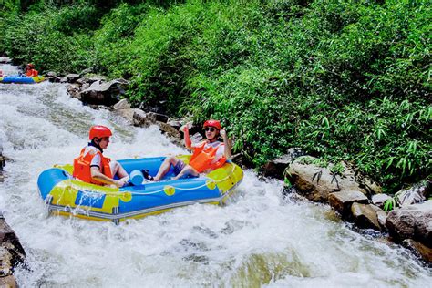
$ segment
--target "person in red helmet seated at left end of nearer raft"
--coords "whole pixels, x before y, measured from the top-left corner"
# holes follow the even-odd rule
[[[93,126],[89,133],[90,142],[74,159],[74,177],[97,185],[122,187],[129,181],[126,170],[115,160],[103,156],[103,149],[109,144],[112,133],[108,127]],[[118,180],[114,176],[118,176]]]

